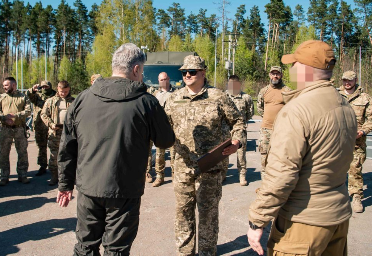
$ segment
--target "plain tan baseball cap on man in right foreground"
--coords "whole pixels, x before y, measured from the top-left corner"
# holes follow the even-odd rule
[[[330,62],[336,58],[331,47],[323,42],[316,40],[308,40],[299,45],[294,54],[286,54],[282,56],[283,64],[291,64],[296,61],[319,69],[333,69],[334,64]]]

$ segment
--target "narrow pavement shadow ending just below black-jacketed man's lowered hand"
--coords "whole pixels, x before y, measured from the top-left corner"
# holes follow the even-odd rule
[[[55,202],[55,200],[55,198],[31,197],[0,202],[0,217],[35,210],[42,207],[44,204]]]

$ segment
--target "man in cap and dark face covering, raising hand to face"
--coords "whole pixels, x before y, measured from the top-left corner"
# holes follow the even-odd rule
[[[41,87],[41,90],[38,90],[39,86]],[[27,91],[27,96],[33,104],[33,130],[35,131],[35,141],[38,146],[38,165],[40,165],[40,169],[35,176],[40,176],[47,172],[48,127],[45,125],[43,120],[41,120],[40,113],[45,100],[53,97],[55,93],[56,92],[52,89],[52,83],[50,81],[42,81],[40,85],[35,84]]]

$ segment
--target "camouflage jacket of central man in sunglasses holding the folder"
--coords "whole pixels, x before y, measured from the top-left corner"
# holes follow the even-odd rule
[[[172,93],[165,106],[176,142],[175,171],[199,173],[196,160],[222,143],[222,120],[231,127],[232,140],[246,137],[246,126],[228,95],[205,84],[191,95],[187,87]],[[210,170],[222,169],[222,162]]]

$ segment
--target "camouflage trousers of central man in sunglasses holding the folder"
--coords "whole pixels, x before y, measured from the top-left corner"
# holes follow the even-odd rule
[[[198,251],[200,256],[215,256],[218,239],[218,204],[222,196],[221,173],[200,175],[174,172],[176,216],[174,231],[178,256],[195,255],[198,207]]]

